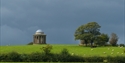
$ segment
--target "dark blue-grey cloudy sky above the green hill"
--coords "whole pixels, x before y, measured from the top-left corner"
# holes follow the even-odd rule
[[[97,22],[125,44],[124,0],[0,0],[0,45],[25,45],[41,29],[48,44],[79,44],[75,30]]]

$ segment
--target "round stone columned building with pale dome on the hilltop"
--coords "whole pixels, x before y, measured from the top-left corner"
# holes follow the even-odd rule
[[[46,35],[42,30],[37,30],[33,35],[33,44],[46,44]]]

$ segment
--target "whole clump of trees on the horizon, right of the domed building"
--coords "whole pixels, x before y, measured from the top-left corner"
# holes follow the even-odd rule
[[[75,33],[75,40],[80,40],[80,45],[93,46],[118,46],[117,42],[119,37],[116,33],[111,33],[110,37],[108,34],[100,32],[101,26],[97,22],[89,22],[79,26]],[[124,44],[120,44],[124,45]]]

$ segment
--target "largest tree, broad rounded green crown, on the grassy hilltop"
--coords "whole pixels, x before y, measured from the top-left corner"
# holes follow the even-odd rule
[[[84,40],[85,44],[88,44],[88,40],[90,40],[90,44],[92,46],[95,38],[100,35],[100,25],[96,22],[89,22],[87,24],[81,25],[75,31],[75,40]]]

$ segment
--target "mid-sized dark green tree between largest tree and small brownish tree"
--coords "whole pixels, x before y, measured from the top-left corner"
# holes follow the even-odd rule
[[[101,35],[97,36],[95,39],[95,44],[99,46],[104,46],[106,43],[109,41],[109,36],[108,34],[102,33]]]

